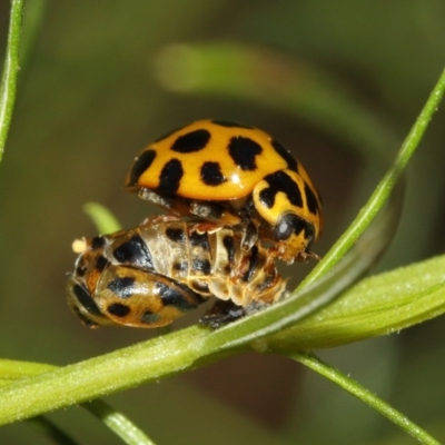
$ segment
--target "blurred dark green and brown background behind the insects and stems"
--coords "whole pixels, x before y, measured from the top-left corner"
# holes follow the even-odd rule
[[[12,359],[66,365],[154,335],[89,330],[65,297],[71,243],[96,234],[85,202],[108,206],[123,227],[158,211],[122,188],[150,140],[200,118],[273,134],[323,195],[326,229],[315,248],[323,255],[373,190],[380,159],[396,152],[445,65],[439,0],[48,1],[40,22],[38,2],[28,3],[23,38],[33,18],[38,28],[24,48],[0,171],[0,355]],[[8,16],[2,0],[2,50]],[[379,270],[444,250],[444,116],[409,167],[400,227]],[[283,274],[298,279],[309,267]],[[319,355],[445,441],[444,335],[435,319]],[[107,400],[159,444],[411,441],[275,356],[235,357]],[[80,443],[120,443],[80,408],[50,418]],[[26,424],[0,429],[0,442],[49,443]]]

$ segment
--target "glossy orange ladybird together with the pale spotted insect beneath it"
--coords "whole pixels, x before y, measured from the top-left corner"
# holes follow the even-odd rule
[[[319,196],[259,129],[221,120],[177,129],[136,158],[127,187],[170,216],[86,241],[68,298],[87,326],[165,326],[211,296],[204,322],[219,326],[283,296],[275,258],[316,257]]]

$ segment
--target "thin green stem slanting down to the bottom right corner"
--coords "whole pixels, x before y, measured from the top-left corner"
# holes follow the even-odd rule
[[[434,437],[432,437],[415,423],[409,421],[400,412],[393,408],[390,405],[378,398],[375,394],[359,385],[357,382],[345,376],[338,369],[330,367],[329,365],[317,358],[315,355],[296,353],[288,354],[288,357],[301,363],[303,365],[307,366],[308,368],[315,370],[316,373],[334,382],[342,388],[346,389],[349,394],[359,398],[362,402],[366,403],[368,406],[370,406],[372,408],[384,415],[386,418],[388,418],[390,422],[399,426],[419,443],[425,445],[439,445],[439,442],[437,442]]]

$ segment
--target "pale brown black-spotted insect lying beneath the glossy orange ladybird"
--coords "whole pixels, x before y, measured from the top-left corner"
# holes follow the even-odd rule
[[[221,303],[202,322],[218,327],[284,296],[267,250],[259,243],[243,249],[241,239],[229,227],[199,233],[192,221],[156,216],[85,240],[68,279],[69,306],[89,327],[160,327],[215,296]]]

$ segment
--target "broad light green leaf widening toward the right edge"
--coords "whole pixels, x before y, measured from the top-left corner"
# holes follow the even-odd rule
[[[312,350],[392,334],[445,313],[445,256],[376,275],[333,305],[268,338],[274,350]]]

